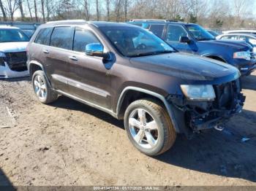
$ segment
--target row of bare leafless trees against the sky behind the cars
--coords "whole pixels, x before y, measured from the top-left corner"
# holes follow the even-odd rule
[[[208,27],[256,27],[255,0],[0,0],[0,18],[45,23],[165,19]]]

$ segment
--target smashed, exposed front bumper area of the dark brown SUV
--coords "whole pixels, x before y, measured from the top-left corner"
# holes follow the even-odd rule
[[[234,114],[241,112],[245,96],[240,81],[214,85],[214,101],[189,101],[184,95],[169,95],[167,101],[173,108],[179,133],[199,133],[202,130],[225,126]]]

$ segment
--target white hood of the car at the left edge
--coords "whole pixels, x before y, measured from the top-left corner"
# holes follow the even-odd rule
[[[23,52],[29,42],[1,42],[0,52]]]

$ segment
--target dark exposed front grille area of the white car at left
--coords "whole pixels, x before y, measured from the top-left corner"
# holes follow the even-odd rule
[[[5,53],[7,64],[12,71],[26,71],[26,52]]]

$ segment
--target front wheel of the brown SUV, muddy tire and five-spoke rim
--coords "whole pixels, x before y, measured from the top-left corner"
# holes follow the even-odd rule
[[[149,156],[162,154],[176,140],[176,131],[167,111],[154,99],[132,102],[124,114],[124,127],[132,144]]]

